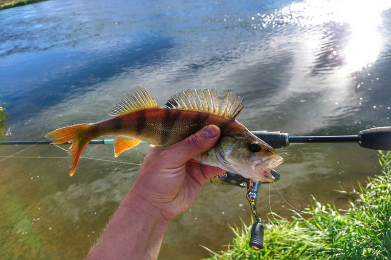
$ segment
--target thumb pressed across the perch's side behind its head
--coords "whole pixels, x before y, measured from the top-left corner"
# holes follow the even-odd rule
[[[169,154],[174,155],[175,164],[182,165],[196,155],[212,148],[220,138],[220,129],[216,125],[208,125],[183,141],[168,147]]]

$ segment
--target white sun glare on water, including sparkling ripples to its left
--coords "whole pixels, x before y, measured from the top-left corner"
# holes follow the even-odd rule
[[[255,25],[279,27],[298,24],[303,27],[335,22],[348,24],[351,35],[344,50],[333,55],[345,60],[341,71],[352,72],[376,60],[382,37],[378,31],[381,12],[391,8],[391,0],[305,0],[292,3],[274,14],[258,14]]]

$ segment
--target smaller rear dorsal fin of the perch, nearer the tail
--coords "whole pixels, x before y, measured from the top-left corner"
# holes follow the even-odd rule
[[[151,107],[159,107],[159,105],[146,87],[139,86],[130,90],[128,94],[111,105],[107,113],[109,116],[116,117]]]

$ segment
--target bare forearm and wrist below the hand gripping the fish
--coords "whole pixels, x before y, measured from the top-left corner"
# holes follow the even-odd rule
[[[168,223],[160,210],[131,191],[88,259],[157,259]]]

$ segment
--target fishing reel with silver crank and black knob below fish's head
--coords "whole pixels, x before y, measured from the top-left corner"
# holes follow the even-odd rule
[[[271,171],[271,174],[276,180],[280,180],[280,174],[275,170]],[[254,223],[251,228],[251,237],[249,245],[255,250],[260,250],[263,248],[263,223],[262,219],[258,215],[257,211],[257,200],[258,200],[258,191],[260,189],[261,182],[257,180],[251,180],[243,178],[242,176],[230,172],[226,172],[215,177],[217,180],[221,180],[223,183],[238,186],[246,187],[246,199],[250,202],[251,213],[254,216]]]

